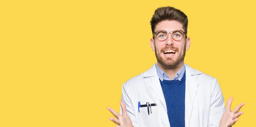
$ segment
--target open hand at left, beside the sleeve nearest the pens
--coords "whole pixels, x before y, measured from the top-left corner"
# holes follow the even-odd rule
[[[119,115],[115,110],[111,109],[110,107],[107,107],[107,109],[116,117],[116,118],[109,118],[111,121],[113,121],[116,125],[116,127],[133,127],[131,119],[126,113],[126,106],[125,104],[120,101],[120,105],[122,108],[122,115]]]

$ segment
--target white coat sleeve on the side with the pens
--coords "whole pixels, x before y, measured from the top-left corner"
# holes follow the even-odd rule
[[[132,122],[133,126],[138,127],[136,115],[134,113],[134,108],[133,108],[132,101],[131,101],[131,93],[130,93],[126,83],[123,84],[123,86],[122,86],[121,100],[124,102],[124,104],[126,106],[126,112],[127,112],[128,116],[131,118],[131,122]],[[120,107],[120,115],[122,115],[121,107]]]

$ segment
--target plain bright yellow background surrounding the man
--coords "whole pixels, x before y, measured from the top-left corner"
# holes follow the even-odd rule
[[[114,127],[122,84],[155,62],[160,6],[189,18],[185,63],[217,78],[234,127],[255,126],[253,0],[0,0],[0,127]]]

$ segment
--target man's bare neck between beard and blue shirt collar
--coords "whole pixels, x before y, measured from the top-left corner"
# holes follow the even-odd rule
[[[177,72],[181,69],[181,67],[183,66],[184,61],[180,62],[178,65],[176,66],[163,66],[161,63],[157,62],[157,65],[159,66],[160,69],[163,70],[163,72],[166,73],[166,75],[169,76],[169,78],[173,79],[174,76],[177,74]]]

